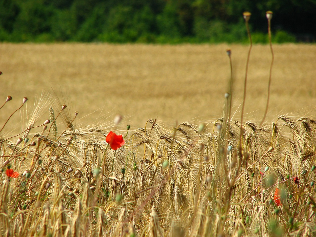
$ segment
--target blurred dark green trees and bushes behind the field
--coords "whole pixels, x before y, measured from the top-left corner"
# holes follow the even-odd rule
[[[252,13],[254,42],[315,41],[316,1],[0,0],[0,41],[243,42],[242,12]]]

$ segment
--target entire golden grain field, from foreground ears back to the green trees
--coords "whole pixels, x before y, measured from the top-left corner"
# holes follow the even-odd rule
[[[1,44],[1,235],[315,236],[316,46],[273,46],[262,126],[270,49],[241,123],[248,46],[229,47],[232,118],[228,45]]]

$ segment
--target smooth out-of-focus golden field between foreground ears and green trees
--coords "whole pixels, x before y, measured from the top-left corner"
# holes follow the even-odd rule
[[[118,113],[125,116],[124,126],[129,123],[132,128],[144,126],[150,118],[168,119],[170,124],[218,118],[230,77],[227,48],[232,50],[233,103],[234,111],[237,110],[234,117],[238,119],[248,45],[2,43],[0,99],[4,102],[11,95],[13,100],[1,110],[0,122],[3,124],[19,107],[24,96],[29,98],[27,104],[31,107],[35,97],[42,92],[53,94],[53,90],[59,99],[61,95],[69,98],[73,111],[79,111],[78,117],[89,114],[82,123],[89,124],[100,115],[112,121]],[[316,45],[273,45],[273,50],[266,121],[285,113],[313,116]],[[246,119],[260,121],[263,117],[270,62],[268,45],[252,47]],[[61,103],[69,106],[67,100],[61,99]]]

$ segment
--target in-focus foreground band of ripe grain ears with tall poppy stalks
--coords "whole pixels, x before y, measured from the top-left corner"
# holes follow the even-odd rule
[[[233,76],[216,121],[149,119],[135,131],[76,126],[78,112],[56,113],[42,96],[21,133],[0,136],[1,236],[314,236],[316,120],[255,124],[243,105],[237,121],[232,88]],[[125,137],[115,151],[105,138],[114,129]]]

